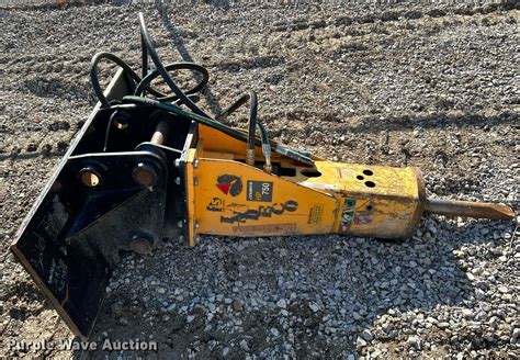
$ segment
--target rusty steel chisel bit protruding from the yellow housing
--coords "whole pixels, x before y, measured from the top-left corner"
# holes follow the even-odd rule
[[[509,206],[472,201],[428,199],[425,210],[445,216],[489,220],[512,220],[515,217],[515,211]]]

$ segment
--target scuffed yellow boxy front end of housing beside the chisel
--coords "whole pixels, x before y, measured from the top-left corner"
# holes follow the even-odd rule
[[[425,206],[422,178],[417,169],[332,161],[316,161],[316,168],[321,176],[303,183],[337,187],[332,191],[343,199],[338,232],[381,238],[412,235]],[[341,214],[346,213],[344,199],[355,200],[354,217],[348,229],[340,225]]]

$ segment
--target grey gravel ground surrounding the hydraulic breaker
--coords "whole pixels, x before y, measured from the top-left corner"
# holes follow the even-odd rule
[[[3,9],[0,357],[520,356],[519,218],[441,216],[403,243],[171,241],[124,258],[92,336],[151,339],[158,352],[10,348],[72,338],[7,248],[93,106],[90,57],[110,50],[137,68],[138,10],[162,58],[180,52],[210,69],[206,109],[255,89],[278,140],[339,161],[419,166],[429,195],[518,210],[515,2]]]

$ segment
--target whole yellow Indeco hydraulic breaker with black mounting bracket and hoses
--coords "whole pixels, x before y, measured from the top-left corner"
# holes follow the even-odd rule
[[[515,216],[505,205],[427,199],[416,168],[339,164],[273,142],[257,119],[255,92],[206,114],[194,102],[206,69],[162,65],[139,21],[142,75],[110,53],[93,57],[99,103],[11,246],[76,335],[92,330],[120,250],[149,254],[163,239],[193,246],[201,234],[394,239],[410,237],[425,212]],[[121,67],[104,91],[103,59]],[[193,71],[197,85],[182,91],[173,70]],[[171,91],[151,86],[159,77]],[[246,130],[223,123],[247,103]]]

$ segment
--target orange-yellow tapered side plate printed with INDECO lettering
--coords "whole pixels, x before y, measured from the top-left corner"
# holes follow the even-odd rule
[[[222,175],[238,177],[241,191],[227,194],[217,185]],[[215,235],[269,236],[332,233],[338,199],[302,187],[248,165],[200,158],[195,176],[195,217],[199,232]],[[255,181],[270,201],[248,200],[248,181]],[[263,185],[263,187],[262,187]],[[249,193],[249,199],[258,199]],[[318,222],[319,221],[319,222]]]

